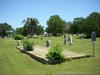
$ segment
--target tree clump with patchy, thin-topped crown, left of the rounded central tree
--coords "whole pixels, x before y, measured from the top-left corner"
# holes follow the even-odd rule
[[[24,26],[20,28],[16,28],[16,34],[21,34],[24,36],[27,35],[40,35],[43,34],[44,29],[43,26],[38,25],[39,21],[37,18],[26,18],[23,20]]]

